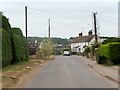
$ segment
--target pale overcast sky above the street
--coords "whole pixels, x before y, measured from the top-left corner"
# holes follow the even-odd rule
[[[28,36],[47,37],[51,19],[51,37],[76,37],[80,32],[94,32],[93,12],[97,12],[99,36],[118,36],[117,0],[4,0],[0,11],[9,18],[12,27],[25,35],[24,7],[28,7]]]

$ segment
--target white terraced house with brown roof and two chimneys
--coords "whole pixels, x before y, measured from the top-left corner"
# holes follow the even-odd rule
[[[98,37],[98,42],[100,38]],[[83,36],[82,32],[79,33],[79,36],[73,39],[71,42],[71,50],[72,52],[83,52],[86,46],[90,46],[95,42],[95,35],[93,35],[92,30],[88,32],[88,35]]]

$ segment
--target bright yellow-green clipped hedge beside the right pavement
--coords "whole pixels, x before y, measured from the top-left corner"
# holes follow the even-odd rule
[[[100,64],[120,64],[120,43],[101,45],[95,52],[96,61]]]

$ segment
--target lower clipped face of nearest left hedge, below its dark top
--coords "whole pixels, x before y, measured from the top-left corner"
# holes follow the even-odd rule
[[[11,64],[12,49],[10,42],[10,35],[2,29],[2,66]]]

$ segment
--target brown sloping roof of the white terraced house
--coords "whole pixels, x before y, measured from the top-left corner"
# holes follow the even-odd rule
[[[95,35],[88,35],[88,36],[80,36],[76,37],[72,43],[79,43],[79,42],[90,42]]]

